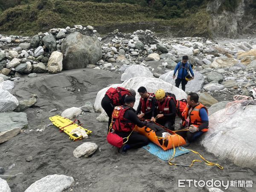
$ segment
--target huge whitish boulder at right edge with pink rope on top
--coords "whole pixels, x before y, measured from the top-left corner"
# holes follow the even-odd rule
[[[218,157],[227,157],[236,165],[256,171],[256,105],[239,106],[209,116],[209,131],[201,143]]]

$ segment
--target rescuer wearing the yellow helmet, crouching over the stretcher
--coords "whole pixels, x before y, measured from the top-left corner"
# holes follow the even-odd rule
[[[155,104],[157,108],[157,116],[154,118],[154,111],[152,111],[153,117],[151,118],[151,121],[155,122],[157,119],[157,123],[174,131],[176,117],[176,99],[174,95],[170,96],[168,93],[165,93],[163,89],[159,89],[156,91],[155,97],[157,99]]]

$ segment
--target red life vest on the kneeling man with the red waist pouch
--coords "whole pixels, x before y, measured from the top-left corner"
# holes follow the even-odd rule
[[[128,106],[116,106],[112,113],[112,128],[115,131],[132,131],[135,127],[135,124],[130,120],[124,118],[125,111],[131,109]]]

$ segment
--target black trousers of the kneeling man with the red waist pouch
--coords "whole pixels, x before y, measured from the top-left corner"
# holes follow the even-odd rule
[[[117,135],[119,135],[120,137],[124,138],[124,137],[128,137],[131,132],[115,131],[115,133]],[[126,140],[124,140],[124,141],[126,141]],[[131,148],[141,148],[145,145],[148,145],[148,143],[149,143],[148,137],[145,137],[144,135],[141,135],[138,132],[133,131],[131,136],[128,139],[128,142],[125,144],[130,145]]]

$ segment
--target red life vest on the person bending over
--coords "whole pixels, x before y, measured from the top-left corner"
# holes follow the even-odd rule
[[[106,95],[113,101],[113,105],[119,106],[124,105],[122,96],[131,95],[131,92],[128,89],[125,89],[124,87],[110,87],[107,90]]]

